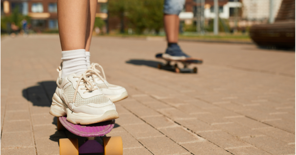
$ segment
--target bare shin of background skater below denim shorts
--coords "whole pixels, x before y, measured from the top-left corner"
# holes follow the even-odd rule
[[[168,43],[178,43],[179,17],[176,14],[164,14],[165,33]]]

